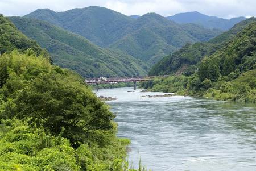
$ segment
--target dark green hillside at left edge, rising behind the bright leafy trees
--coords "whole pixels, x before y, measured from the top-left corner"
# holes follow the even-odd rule
[[[22,34],[8,18],[0,15],[0,89],[5,85],[10,73],[13,72],[6,64],[10,64],[10,62],[20,64],[19,60],[7,60],[6,56],[12,57],[19,53],[33,57],[40,56],[42,60],[51,62],[49,53],[45,49],[42,49],[35,40]],[[37,71],[31,70],[31,72],[36,73]],[[1,97],[0,102],[2,103]]]

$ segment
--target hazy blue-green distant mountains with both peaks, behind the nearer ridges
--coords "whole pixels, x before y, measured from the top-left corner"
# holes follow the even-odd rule
[[[97,6],[65,12],[39,9],[26,17],[45,20],[149,65],[186,43],[207,41],[221,33],[195,24],[180,25],[154,13],[134,18]]]

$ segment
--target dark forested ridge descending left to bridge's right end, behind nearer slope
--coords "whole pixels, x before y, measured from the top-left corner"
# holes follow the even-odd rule
[[[185,73],[192,74],[196,71],[195,66],[204,56],[212,55],[221,49],[228,41],[232,40],[238,32],[247,27],[255,18],[244,20],[229,31],[209,40],[207,43],[187,44],[172,55],[164,57],[150,69],[150,75]]]

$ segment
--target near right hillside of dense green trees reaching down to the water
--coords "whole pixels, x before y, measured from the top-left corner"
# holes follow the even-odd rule
[[[254,19],[249,21],[249,23],[246,22],[246,27],[238,32],[233,39],[226,41],[226,43],[220,41],[218,45],[224,46],[204,57],[197,64],[198,70],[187,74],[187,76],[156,78],[142,84],[142,87],[152,91],[176,92],[183,95],[204,95],[205,97],[224,101],[255,103],[256,22]],[[187,48],[185,47],[185,49]],[[191,51],[188,51],[188,54],[183,51],[182,54],[186,56]],[[181,50],[177,53],[180,52]]]

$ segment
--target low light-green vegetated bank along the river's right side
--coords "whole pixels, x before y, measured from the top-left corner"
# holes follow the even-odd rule
[[[207,97],[220,101],[256,103],[256,70],[250,70],[236,79],[220,77],[218,81],[200,82],[196,76],[170,76],[142,82],[142,89],[163,91],[178,95]]]

